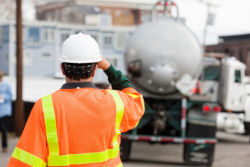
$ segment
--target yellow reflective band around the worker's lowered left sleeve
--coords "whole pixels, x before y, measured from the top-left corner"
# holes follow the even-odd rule
[[[32,155],[26,151],[21,150],[20,148],[15,148],[13,154],[13,158],[16,158],[17,160],[24,162],[25,164],[28,164],[33,167],[45,167],[47,166],[47,163],[45,163],[42,159],[38,158],[35,155]]]

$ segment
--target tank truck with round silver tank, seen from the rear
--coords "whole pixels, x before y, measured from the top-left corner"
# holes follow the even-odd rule
[[[162,15],[156,10],[160,5],[164,6]],[[169,6],[176,7],[176,17],[168,13]],[[128,75],[132,86],[143,94],[145,113],[136,128],[121,135],[122,160],[129,159],[132,141],[147,141],[184,143],[186,164],[213,163],[221,106],[213,98],[215,93],[201,92],[203,86],[215,83],[199,81],[204,76],[203,48],[178,13],[176,3],[158,1],[152,20],[138,26],[127,42]]]

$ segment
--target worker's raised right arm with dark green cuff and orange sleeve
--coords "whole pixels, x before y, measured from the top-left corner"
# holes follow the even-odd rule
[[[142,95],[132,88],[128,78],[121,71],[116,70],[112,65],[107,63],[104,57],[102,59],[104,62],[101,62],[101,67],[108,76],[112,89],[119,90],[118,94],[122,102],[122,104],[119,104],[121,105],[119,107],[124,109],[120,131],[126,132],[135,128],[144,114],[144,100]],[[119,103],[119,99],[116,100]]]

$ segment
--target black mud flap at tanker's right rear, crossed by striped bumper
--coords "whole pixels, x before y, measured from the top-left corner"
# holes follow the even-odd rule
[[[216,126],[188,124],[187,136],[215,138]],[[184,144],[183,157],[188,165],[211,166],[214,160],[215,144]]]

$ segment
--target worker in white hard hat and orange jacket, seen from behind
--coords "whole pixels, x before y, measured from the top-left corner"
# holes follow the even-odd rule
[[[59,59],[66,83],[38,100],[8,167],[122,167],[120,135],[144,114],[144,101],[89,35],[71,35]],[[102,69],[113,90],[92,83]]]

